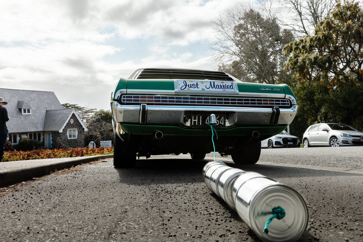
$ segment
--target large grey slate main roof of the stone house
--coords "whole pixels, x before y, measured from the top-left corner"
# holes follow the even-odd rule
[[[8,110],[10,117],[10,120],[7,122],[9,133],[47,131],[44,130],[46,111],[63,109],[56,94],[52,91],[0,88],[0,97],[8,102],[4,107]],[[18,103],[19,101],[20,103]],[[18,108],[18,105],[24,108],[25,105],[27,108],[31,107],[31,114],[21,114],[21,109]]]

